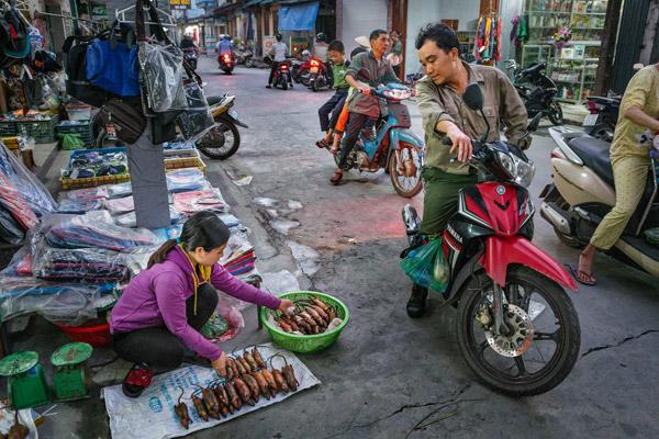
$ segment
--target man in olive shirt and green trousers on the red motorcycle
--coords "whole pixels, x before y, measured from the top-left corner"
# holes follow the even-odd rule
[[[416,85],[416,102],[423,120],[426,156],[422,169],[425,189],[421,233],[442,234],[458,207],[458,191],[473,185],[478,178],[467,162],[471,139],[481,138],[487,126],[480,113],[462,102],[462,92],[471,82],[483,91],[483,112],[490,124],[488,142],[500,138],[499,121],[506,126],[507,140],[517,144],[525,134],[527,115],[515,88],[499,69],[469,65],[460,59],[456,33],[439,23],[428,24],[416,37],[418,59],[426,76]],[[444,136],[453,146],[442,143]],[[528,147],[528,143],[520,145]],[[457,153],[457,161],[451,156]],[[425,309],[427,290],[414,285],[407,302],[410,317]]]

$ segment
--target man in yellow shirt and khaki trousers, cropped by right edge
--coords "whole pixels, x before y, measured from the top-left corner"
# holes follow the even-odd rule
[[[650,167],[650,147],[641,143],[649,128],[659,132],[659,64],[640,69],[625,90],[611,144],[611,166],[615,181],[615,206],[604,216],[590,244],[570,267],[577,281],[594,285],[593,259],[597,249],[608,250],[619,239],[645,191]]]

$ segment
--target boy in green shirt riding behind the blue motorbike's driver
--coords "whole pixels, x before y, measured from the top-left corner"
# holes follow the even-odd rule
[[[338,120],[338,115],[343,109],[350,86],[346,81],[346,71],[350,65],[345,56],[345,48],[342,42],[333,41],[327,48],[327,57],[332,61],[332,74],[334,76],[334,88],[336,92],[327,102],[319,109],[319,117],[321,120],[321,131],[325,132],[325,137],[316,142],[319,148],[326,148],[332,142],[334,126]],[[330,114],[332,113],[332,117]]]

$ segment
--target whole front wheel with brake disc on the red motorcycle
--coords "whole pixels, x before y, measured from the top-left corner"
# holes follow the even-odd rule
[[[504,290],[512,334],[484,329],[483,322],[493,318],[493,283],[481,272],[467,282],[458,304],[458,345],[467,365],[488,386],[511,396],[539,395],[574,367],[581,346],[579,317],[565,290],[529,268],[512,268]]]

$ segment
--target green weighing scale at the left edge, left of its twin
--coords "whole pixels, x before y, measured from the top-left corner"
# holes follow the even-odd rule
[[[51,402],[44,368],[34,351],[15,352],[0,360],[0,375],[7,376],[9,401],[14,409]]]

